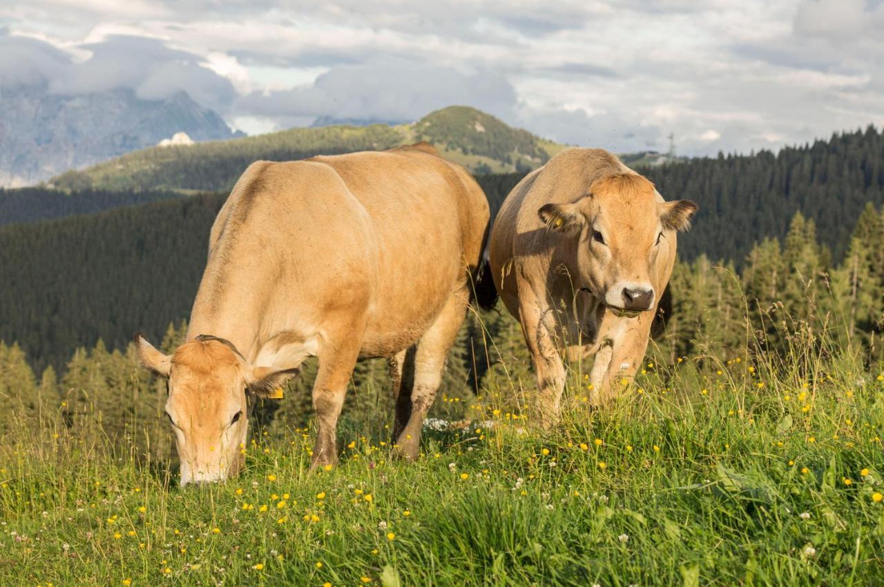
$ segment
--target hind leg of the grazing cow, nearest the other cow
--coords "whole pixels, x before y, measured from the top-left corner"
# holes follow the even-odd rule
[[[423,418],[426,418],[436,399],[436,392],[442,383],[442,372],[445,369],[448,350],[451,349],[454,338],[461,328],[468,303],[467,290],[454,292],[436,321],[417,342],[413,361],[414,385],[411,389],[411,409],[408,420],[398,433],[394,448],[396,455],[409,461],[416,459],[420,450]],[[400,402],[407,395],[406,391],[407,389],[403,387]],[[397,425],[400,421],[400,402],[397,402]]]

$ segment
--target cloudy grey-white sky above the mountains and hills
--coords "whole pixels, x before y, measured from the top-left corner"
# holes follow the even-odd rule
[[[0,89],[185,90],[248,133],[468,104],[618,152],[748,152],[884,125],[884,0],[28,0]]]

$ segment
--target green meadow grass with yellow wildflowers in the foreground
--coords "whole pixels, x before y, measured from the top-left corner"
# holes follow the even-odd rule
[[[548,433],[489,392],[410,465],[385,415],[314,474],[310,431],[258,433],[198,488],[135,440],[13,425],[0,583],[880,584],[884,378],[821,356],[649,364],[594,413],[574,380]]]

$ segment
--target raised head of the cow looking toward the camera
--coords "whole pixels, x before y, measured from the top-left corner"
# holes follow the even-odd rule
[[[690,200],[663,201],[636,174],[603,177],[575,202],[538,210],[549,230],[576,237],[579,287],[630,316],[656,307],[655,276],[674,260],[675,232],[688,230],[696,212]]]

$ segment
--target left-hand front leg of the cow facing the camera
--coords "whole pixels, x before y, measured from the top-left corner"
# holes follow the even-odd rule
[[[522,334],[537,375],[537,414],[540,425],[559,422],[561,394],[565,388],[565,365],[559,355],[555,316],[550,309],[526,301],[519,307]]]

